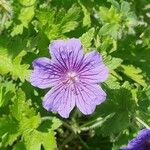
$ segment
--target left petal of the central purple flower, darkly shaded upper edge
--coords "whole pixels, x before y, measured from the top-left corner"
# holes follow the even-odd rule
[[[61,68],[52,64],[48,58],[42,57],[34,60],[33,67],[34,70],[30,76],[30,82],[33,86],[44,89],[57,84],[61,80]]]

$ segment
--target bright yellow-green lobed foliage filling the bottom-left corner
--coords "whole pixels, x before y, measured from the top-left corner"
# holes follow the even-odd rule
[[[60,126],[59,120],[51,121],[48,126],[48,132],[39,130],[41,117],[39,113],[31,107],[31,101],[26,101],[25,93],[22,90],[16,91],[16,96],[10,106],[9,116],[0,118],[0,136],[2,147],[12,145],[14,149],[25,147],[25,149],[33,150],[41,148],[55,149],[56,141],[54,130]],[[46,126],[45,126],[46,127]],[[15,141],[24,143],[17,143]]]

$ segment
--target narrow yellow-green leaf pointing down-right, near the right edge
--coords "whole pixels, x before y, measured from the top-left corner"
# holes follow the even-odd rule
[[[125,75],[131,78],[133,81],[137,82],[138,84],[146,87],[147,84],[143,78],[142,70],[140,68],[135,68],[133,65],[121,65],[121,70]]]

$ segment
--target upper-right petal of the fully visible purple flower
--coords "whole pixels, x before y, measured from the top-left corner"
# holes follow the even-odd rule
[[[103,82],[108,77],[108,68],[103,64],[102,57],[96,51],[86,54],[78,72],[81,80],[90,83]]]

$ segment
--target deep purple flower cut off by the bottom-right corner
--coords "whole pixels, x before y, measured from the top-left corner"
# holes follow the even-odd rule
[[[128,146],[122,150],[150,150],[150,130],[143,129],[129,142]]]

